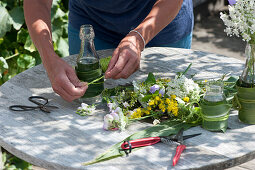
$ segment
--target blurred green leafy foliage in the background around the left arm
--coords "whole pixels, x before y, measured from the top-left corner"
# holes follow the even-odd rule
[[[68,56],[68,0],[53,0],[51,8],[54,50]],[[0,85],[41,63],[26,27],[23,0],[0,1]]]

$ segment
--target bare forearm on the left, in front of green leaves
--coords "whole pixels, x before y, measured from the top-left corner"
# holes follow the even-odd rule
[[[42,61],[54,55],[51,38],[52,0],[24,0],[24,15],[30,36],[38,49]]]

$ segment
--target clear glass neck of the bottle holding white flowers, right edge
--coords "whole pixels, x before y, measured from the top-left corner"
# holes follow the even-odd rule
[[[247,43],[245,48],[246,63],[242,75],[239,78],[241,87],[252,88],[255,85],[255,44]]]

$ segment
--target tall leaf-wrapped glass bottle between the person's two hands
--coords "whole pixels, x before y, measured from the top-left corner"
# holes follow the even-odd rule
[[[92,25],[82,25],[80,28],[81,49],[75,67],[81,81],[92,82],[103,76],[99,57],[94,45],[94,30]],[[104,90],[104,78],[90,84],[84,96],[79,101],[93,104],[101,101],[100,94]]]

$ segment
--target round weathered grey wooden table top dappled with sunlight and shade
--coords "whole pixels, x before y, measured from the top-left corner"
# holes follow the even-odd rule
[[[112,50],[98,52],[107,57]],[[76,56],[64,59],[74,65]],[[148,72],[161,77],[174,77],[192,64],[188,75],[195,79],[220,78],[224,73],[240,75],[243,62],[217,54],[177,48],[148,48],[142,52],[141,68],[128,79],[106,80],[105,87],[114,87],[132,80],[145,79]],[[31,105],[29,96],[50,99],[60,109],[47,114],[41,111],[13,112],[10,105]],[[240,123],[237,111],[231,111],[226,133],[209,132],[193,127],[186,134],[202,133],[185,140],[187,148],[172,167],[176,146],[158,143],[130,154],[94,165],[83,166],[138,130],[152,125],[137,122],[127,130],[104,131],[106,106],[96,115],[81,117],[75,113],[80,104],[68,103],[53,92],[42,65],[15,76],[0,87],[0,146],[34,165],[46,169],[215,169],[231,167],[255,158],[255,125]]]

